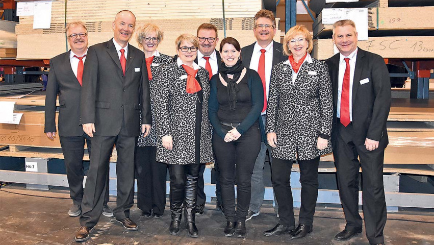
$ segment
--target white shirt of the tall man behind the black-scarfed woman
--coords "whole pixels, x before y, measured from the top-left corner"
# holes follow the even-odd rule
[[[265,50],[265,90],[267,92],[267,102],[268,102],[268,92],[270,89],[270,78],[271,69],[273,68],[273,41],[268,44],[265,48],[261,47],[258,42],[254,44],[253,53],[251,54],[250,69],[258,71],[259,58],[261,57],[261,50]],[[266,114],[267,111],[262,112]]]

